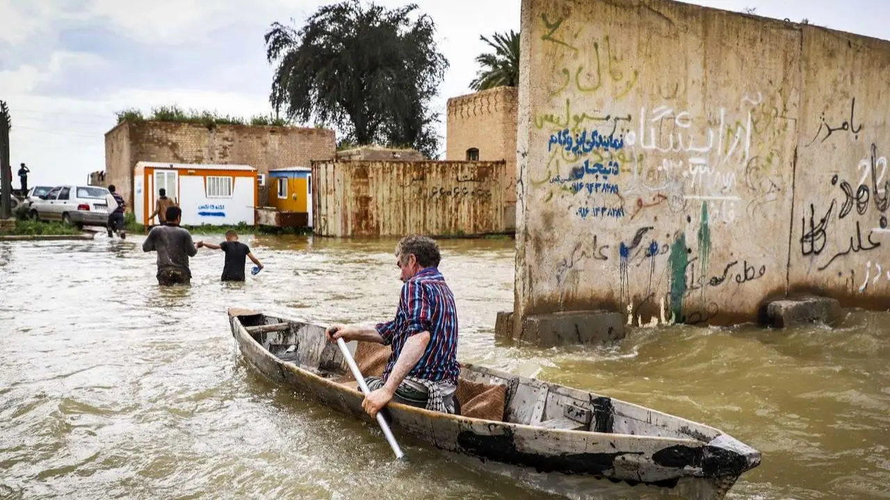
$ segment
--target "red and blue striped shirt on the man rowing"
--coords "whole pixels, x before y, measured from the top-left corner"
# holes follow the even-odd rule
[[[436,268],[420,270],[401,286],[399,309],[395,319],[376,326],[384,344],[392,345],[392,354],[384,369],[384,380],[399,359],[411,335],[430,333],[424,355],[411,369],[409,376],[457,384],[457,307],[454,294]]]

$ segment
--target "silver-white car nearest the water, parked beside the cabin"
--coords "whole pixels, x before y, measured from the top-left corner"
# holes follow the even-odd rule
[[[99,186],[56,186],[34,201],[28,214],[38,221],[67,222],[78,228],[104,227],[109,219],[107,194],[109,190]]]

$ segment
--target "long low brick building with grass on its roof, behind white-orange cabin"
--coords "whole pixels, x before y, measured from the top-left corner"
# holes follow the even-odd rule
[[[334,157],[336,134],[325,128],[124,122],[105,133],[105,185],[133,209],[137,162],[251,165],[257,173],[287,166],[310,166]],[[260,188],[268,205],[269,183]]]

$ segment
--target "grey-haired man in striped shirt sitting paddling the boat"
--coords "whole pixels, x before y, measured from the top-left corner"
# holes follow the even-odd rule
[[[401,298],[395,319],[376,327],[334,325],[328,339],[392,346],[382,377],[367,377],[371,390],[361,406],[371,417],[390,401],[458,413],[457,308],[439,272],[441,254],[431,238],[409,236],[396,246]]]

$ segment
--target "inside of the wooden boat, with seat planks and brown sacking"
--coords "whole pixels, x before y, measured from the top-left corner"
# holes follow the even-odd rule
[[[357,388],[336,343],[328,342],[324,327],[260,313],[236,318],[248,335],[278,359]],[[391,352],[389,346],[348,345],[362,375],[383,373]],[[462,416],[546,429],[659,436],[705,443],[721,434],[700,423],[594,392],[465,363],[461,363],[456,396]]]

